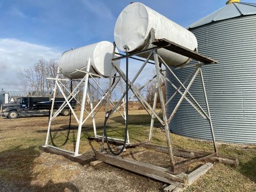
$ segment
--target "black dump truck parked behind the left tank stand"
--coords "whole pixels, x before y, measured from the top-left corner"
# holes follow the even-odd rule
[[[55,113],[61,104],[65,102],[63,97],[55,97],[53,113]],[[73,109],[76,108],[76,100],[73,98],[70,101]],[[1,116],[9,119],[16,119],[19,117],[33,117],[33,116],[49,116],[49,111],[52,106],[52,99],[50,97],[20,97],[17,102],[6,103],[1,105]],[[69,106],[60,112],[62,116],[70,115]]]

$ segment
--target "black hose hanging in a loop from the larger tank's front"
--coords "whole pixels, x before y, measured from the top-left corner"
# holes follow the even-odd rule
[[[109,139],[108,139],[108,134],[106,133],[106,121],[108,121],[108,119],[109,119],[109,117],[110,117],[110,115],[111,115],[111,113],[112,113],[112,110],[110,110],[108,113],[106,113],[106,116],[105,116],[105,120],[104,120],[104,126],[103,126],[103,131],[104,131],[104,139],[106,139],[106,144],[108,145],[108,148],[109,148],[109,150],[110,150],[110,152],[113,154],[113,155],[120,155],[122,152],[123,152],[123,150],[124,150],[124,148],[125,148],[125,144],[126,144],[126,142],[127,142],[127,133],[128,133],[128,90],[129,90],[129,86],[128,86],[128,84],[129,84],[129,81],[128,81],[128,52],[126,52],[126,81],[125,81],[125,88],[126,88],[126,109],[125,109],[125,111],[126,111],[126,119],[125,119],[125,136],[124,136],[124,143],[123,143],[123,146],[122,146],[122,148],[121,148],[121,150],[120,151],[118,151],[118,152],[115,152],[115,151],[113,151],[112,150],[112,148],[111,148],[111,146],[110,146],[110,143],[109,143]],[[109,90],[110,91],[110,90]]]

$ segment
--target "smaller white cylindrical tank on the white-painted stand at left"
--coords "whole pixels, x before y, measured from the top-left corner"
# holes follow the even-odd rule
[[[96,44],[66,51],[59,59],[60,72],[70,79],[83,78],[86,73],[76,71],[76,69],[86,71],[87,60],[90,57],[90,72],[109,77],[112,73],[113,49],[114,46],[111,42],[100,41]],[[117,49],[116,52],[118,52]],[[115,61],[115,63],[120,66],[120,60]],[[116,70],[113,71],[113,75],[115,73]]]

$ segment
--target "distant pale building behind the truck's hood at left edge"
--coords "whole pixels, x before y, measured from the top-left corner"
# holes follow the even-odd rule
[[[18,97],[26,96],[25,91],[7,91],[2,89],[0,91],[0,105],[3,103],[15,102]]]

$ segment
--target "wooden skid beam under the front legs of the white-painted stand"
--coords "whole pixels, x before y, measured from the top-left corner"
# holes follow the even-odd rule
[[[52,148],[52,147],[44,147],[44,146],[38,146],[39,150],[43,151],[43,152],[46,152],[46,153],[52,153],[52,154],[55,154],[55,155],[61,155],[71,161],[74,161],[74,162],[77,162],[81,165],[85,165],[85,164],[88,164],[90,163],[91,161],[95,161],[96,158],[95,158],[95,155],[94,153],[90,153],[90,154],[83,154],[83,155],[80,155],[80,156],[76,156],[74,157],[73,154],[70,154],[68,152],[63,152],[63,151],[60,151],[60,150],[57,150],[56,148]]]

